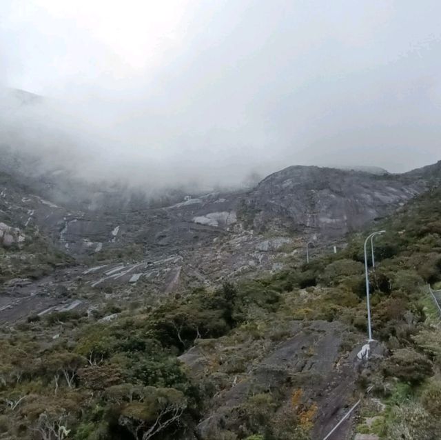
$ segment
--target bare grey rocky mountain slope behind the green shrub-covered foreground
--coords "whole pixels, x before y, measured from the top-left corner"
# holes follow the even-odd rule
[[[94,186],[89,187],[92,205],[67,194],[63,203],[55,203],[49,197],[57,183],[65,182],[63,174],[45,175],[42,185],[41,177],[28,174],[21,179],[22,168],[8,169],[14,163],[3,161],[0,174],[3,247],[14,244],[20,249],[23,237],[28,237],[26,246],[45,237],[53,250],[28,252],[26,257],[32,267],[45,268],[42,275],[48,273],[45,255],[61,252],[65,257],[51,261],[59,266],[65,261],[72,266],[74,261],[66,271],[81,274],[85,286],[116,290],[121,286],[124,292],[136,292],[137,286],[173,292],[271,273],[292,257],[303,261],[307,241],[313,241],[311,252],[331,252],[333,246],[343,246],[345,234],[400,208],[440,175],[440,163],[381,176],[292,166],[252,190],[187,194],[181,200],[176,192],[172,199],[156,200],[157,207],[142,197],[136,204],[134,192],[115,188],[115,199],[108,203]],[[81,192],[88,188],[71,180],[73,194],[76,183]],[[130,203],[125,194],[131,194]],[[20,265],[9,261],[8,272],[3,273],[10,279],[22,277]],[[49,282],[57,279],[55,273]],[[35,284],[32,291],[39,290]]]

